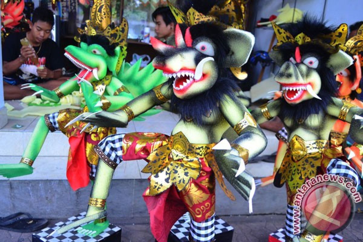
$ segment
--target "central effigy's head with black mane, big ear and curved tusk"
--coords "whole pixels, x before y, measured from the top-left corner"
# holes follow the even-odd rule
[[[177,25],[176,47],[154,38],[151,42],[160,52],[154,67],[170,77],[172,107],[183,119],[200,123],[201,116],[214,110],[224,94],[233,96],[237,85],[223,73],[227,67],[246,63],[254,37],[243,30],[205,22],[191,27]]]

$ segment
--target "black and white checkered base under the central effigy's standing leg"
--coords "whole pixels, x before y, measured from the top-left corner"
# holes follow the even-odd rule
[[[233,227],[218,216],[215,217],[216,242],[232,242]],[[185,213],[171,227],[168,242],[188,242],[190,227],[189,213]]]

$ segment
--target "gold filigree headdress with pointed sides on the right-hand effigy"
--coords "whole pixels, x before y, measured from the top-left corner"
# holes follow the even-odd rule
[[[305,33],[299,33],[293,37],[287,30],[281,28],[274,22],[271,22],[275,31],[277,43],[274,49],[278,49],[278,46],[290,42],[297,45],[303,45],[306,43],[315,43],[321,45],[328,52],[337,52],[337,50],[347,50],[347,46],[344,45],[348,34],[348,25],[341,24],[334,32],[330,34],[322,34],[318,38],[311,39]]]

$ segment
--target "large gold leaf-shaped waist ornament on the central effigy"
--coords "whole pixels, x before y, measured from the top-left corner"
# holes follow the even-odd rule
[[[182,132],[169,138],[147,157],[150,162],[142,172],[151,173],[150,195],[164,192],[171,185],[181,191],[190,179],[197,179],[201,171],[200,158],[212,153],[215,144],[191,144]]]

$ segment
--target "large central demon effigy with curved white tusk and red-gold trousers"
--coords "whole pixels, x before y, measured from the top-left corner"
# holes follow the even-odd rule
[[[262,152],[266,138],[236,97],[237,86],[225,77],[225,71],[244,65],[254,37],[205,20],[189,27],[177,25],[175,42],[176,47],[152,38],[160,53],[153,65],[171,77],[168,82],[128,102],[120,111],[84,113],[81,120],[97,126],[125,127],[134,117],[171,100],[171,107],[181,117],[179,122],[170,136],[137,132],[103,139],[95,147],[100,159],[86,218],[58,233],[105,217],[114,170],[126,160],[148,161],[143,172],[151,173],[150,186],[143,197],[152,234],[159,242],[167,241],[171,226],[185,212],[191,216],[190,241],[214,240],[215,179],[234,199],[223,175],[252,203],[254,180],[241,167]],[[232,144],[221,141],[229,127],[238,134]],[[94,236],[101,229],[89,223],[78,231]]]

